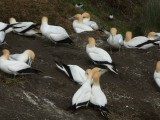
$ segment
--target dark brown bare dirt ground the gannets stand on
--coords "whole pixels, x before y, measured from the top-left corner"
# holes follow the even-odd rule
[[[87,69],[94,65],[86,54],[87,37],[109,51],[107,36],[101,32],[72,34],[73,45],[51,45],[45,38],[28,38],[13,33],[6,36],[11,53],[32,49],[36,53],[33,68],[39,75],[13,76],[0,72],[1,120],[103,120],[91,108],[68,110],[73,94],[80,85],[73,83],[55,66],[55,60]],[[1,53],[0,53],[1,54]],[[160,60],[158,47],[148,50],[113,51],[119,75],[107,72],[101,77],[101,88],[108,99],[110,120],[160,120],[160,90],[153,73]]]

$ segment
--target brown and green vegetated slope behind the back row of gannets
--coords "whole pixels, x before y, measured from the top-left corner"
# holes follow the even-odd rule
[[[75,9],[76,3],[83,3],[83,10],[91,14],[91,19],[96,21],[100,28],[109,30],[117,27],[118,32],[125,34],[126,31],[133,31],[134,35],[146,34],[148,31],[158,31],[160,28],[160,2],[159,0],[39,0],[1,1],[0,9],[3,22],[8,18],[15,17],[18,21],[28,20],[40,22],[42,16],[49,17],[49,23],[61,25],[66,28],[69,34],[74,33],[72,21],[69,17],[76,13],[82,13]],[[96,4],[95,4],[96,3]],[[109,14],[115,19],[110,21]],[[139,14],[138,14],[139,13]]]

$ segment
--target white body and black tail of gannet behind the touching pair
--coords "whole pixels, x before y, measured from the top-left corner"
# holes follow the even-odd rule
[[[85,71],[78,65],[66,65],[62,62],[55,62],[57,68],[62,70],[74,82],[80,85],[83,85],[86,82],[87,76],[85,74]]]

